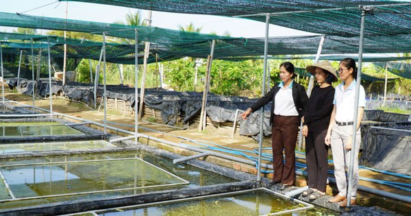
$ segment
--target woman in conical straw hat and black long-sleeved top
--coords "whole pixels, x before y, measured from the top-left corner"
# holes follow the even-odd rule
[[[312,89],[308,99],[306,115],[303,121],[303,136],[306,136],[306,161],[308,173],[308,189],[303,191],[303,197],[310,195],[314,201],[325,195],[328,175],[328,145],[325,135],[329,119],[334,107],[335,89],[332,82],[338,81],[336,70],[325,60],[308,66],[307,71],[315,76],[318,86]]]

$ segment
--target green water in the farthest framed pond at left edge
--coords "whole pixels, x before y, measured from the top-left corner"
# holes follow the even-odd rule
[[[53,136],[80,135],[78,130],[56,123],[1,123],[0,137],[6,136]]]

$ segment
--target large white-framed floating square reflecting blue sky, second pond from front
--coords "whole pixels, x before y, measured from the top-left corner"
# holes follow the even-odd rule
[[[190,182],[140,158],[82,160],[58,163],[0,166],[0,176],[10,199],[86,195],[155,187],[172,187]]]

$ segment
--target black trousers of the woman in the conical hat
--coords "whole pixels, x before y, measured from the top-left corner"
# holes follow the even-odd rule
[[[306,160],[308,187],[325,192],[328,173],[328,145],[324,133],[308,132],[306,137]]]

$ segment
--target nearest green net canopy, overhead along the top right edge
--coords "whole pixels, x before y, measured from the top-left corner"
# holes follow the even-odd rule
[[[118,5],[185,14],[210,14],[221,16],[247,16],[247,19],[265,22],[271,13],[270,23],[327,35],[358,36],[360,34],[360,5],[373,6],[366,15],[365,35],[396,35],[411,33],[411,7],[409,1],[388,0],[61,0]]]

